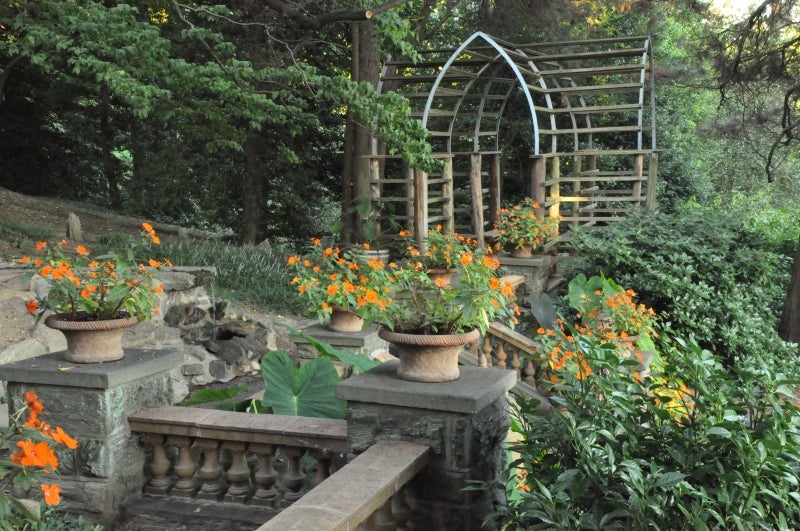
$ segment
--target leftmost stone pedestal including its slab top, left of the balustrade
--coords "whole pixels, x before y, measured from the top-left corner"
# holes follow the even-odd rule
[[[0,366],[10,415],[34,391],[44,405],[41,417],[78,441],[74,452],[58,447],[60,475],[52,479],[63,489],[65,508],[108,524],[127,498],[141,493],[144,448],[127,417],[171,405],[169,373],[182,362],[177,351],[125,349],[123,359],[108,363],[70,363],[61,351]]]

